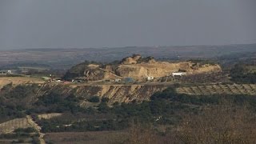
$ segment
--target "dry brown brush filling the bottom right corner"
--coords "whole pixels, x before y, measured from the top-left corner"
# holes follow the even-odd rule
[[[178,126],[184,143],[254,143],[255,114],[245,107],[213,106],[187,115]]]

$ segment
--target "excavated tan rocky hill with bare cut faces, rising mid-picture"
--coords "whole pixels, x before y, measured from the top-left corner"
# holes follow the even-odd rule
[[[153,57],[142,58],[139,54],[123,58],[121,62],[108,65],[84,65],[79,64],[70,69],[64,78],[104,80],[112,78],[147,77],[162,78],[170,76],[174,72],[186,71],[186,74],[205,74],[222,71],[218,64],[199,62],[157,62]],[[69,77],[69,78],[68,78]]]

